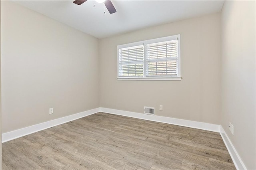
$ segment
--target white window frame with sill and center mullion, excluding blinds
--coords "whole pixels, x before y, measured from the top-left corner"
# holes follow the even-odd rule
[[[148,76],[146,77],[146,44],[151,44],[151,43],[160,43],[160,42],[167,42],[167,41],[172,41],[172,40],[178,40],[178,64],[177,64],[177,76]],[[127,43],[127,44],[122,44],[117,46],[117,80],[118,81],[136,81],[136,80],[181,80],[181,53],[180,53],[180,34],[174,35],[174,36],[168,36],[168,37],[162,37],[162,38],[156,38],[156,39],[151,39],[151,40],[144,40],[140,42],[134,42],[134,43]],[[134,47],[138,45],[143,45],[144,46],[144,64],[143,64],[143,77],[119,77],[119,49],[122,48],[128,48],[128,47]]]

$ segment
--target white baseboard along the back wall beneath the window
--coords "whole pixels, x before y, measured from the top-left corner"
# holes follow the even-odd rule
[[[163,117],[163,116],[156,116],[156,115],[146,115],[142,113],[136,112],[129,112],[129,111],[121,111],[116,109],[108,109],[104,107],[100,107],[100,111],[104,113],[110,113],[114,115],[121,115],[126,117],[133,117],[137,119],[144,119],[148,121],[155,121],[161,123],[168,123],[172,125],[179,125],[183,127],[190,127],[190,128],[198,128],[202,130],[209,130],[213,132],[220,132],[220,125],[210,124],[210,123],[203,123],[203,122],[196,122],[196,121],[188,121],[184,119],[176,119],[170,117]]]

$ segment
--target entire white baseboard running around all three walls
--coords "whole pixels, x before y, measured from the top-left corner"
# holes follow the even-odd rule
[[[67,123],[76,119],[80,119],[82,117],[86,117],[89,115],[92,115],[94,113],[98,112],[104,112],[104,113],[110,113],[114,115],[121,115],[126,117],[133,117],[137,119],[144,119],[148,121],[155,121],[155,122],[161,122],[161,123],[168,123],[172,125],[179,125],[184,127],[190,127],[190,128],[198,128],[202,130],[209,130],[213,132],[220,132],[220,135],[222,136],[222,139],[228,149],[228,152],[234,162],[234,165],[236,166],[236,169],[246,169],[246,166],[242,162],[240,156],[236,152],[236,149],[234,148],[232,142],[228,138],[226,132],[222,128],[221,125],[215,125],[210,123],[203,123],[203,122],[197,122],[197,121],[188,121],[184,119],[176,119],[176,118],[170,118],[170,117],[162,117],[162,116],[156,116],[156,115],[146,115],[142,113],[136,113],[136,112],[129,112],[129,111],[122,111],[122,110],[116,110],[116,109],[108,109],[104,107],[99,107],[96,109],[92,109],[89,111],[84,111],[81,113],[77,113],[74,115],[62,117],[59,119],[54,119],[52,121],[40,123],[37,125],[32,125],[30,127],[21,128],[18,130],[14,130],[11,132],[6,132],[2,134],[2,143],[7,142],[9,140],[13,140],[22,136],[26,136],[28,134],[32,134],[34,132],[38,132],[40,130],[44,130],[50,127],[54,127],[57,125],[61,125],[63,123]]]

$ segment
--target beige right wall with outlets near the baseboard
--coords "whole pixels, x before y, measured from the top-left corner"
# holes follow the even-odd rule
[[[226,1],[221,21],[221,125],[246,168],[256,169],[255,1]]]

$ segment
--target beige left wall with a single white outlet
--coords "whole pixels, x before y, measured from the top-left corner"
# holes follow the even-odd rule
[[[99,107],[98,45],[92,36],[3,1],[2,132]]]

